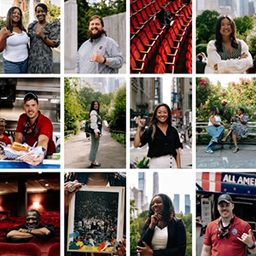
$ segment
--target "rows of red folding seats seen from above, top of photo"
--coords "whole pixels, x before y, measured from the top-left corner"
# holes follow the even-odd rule
[[[174,73],[183,43],[190,35],[192,3],[182,5],[178,0],[146,3],[146,0],[131,3],[131,73],[147,73],[149,61],[155,61],[154,73]],[[157,18],[153,19],[160,6],[181,15],[172,18],[174,22],[169,29]],[[153,60],[155,52],[158,54]]]

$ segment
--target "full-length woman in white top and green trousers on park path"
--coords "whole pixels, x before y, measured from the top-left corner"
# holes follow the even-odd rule
[[[100,163],[96,162],[96,154],[100,143],[100,134],[102,119],[100,116],[100,103],[93,101],[90,104],[90,128],[94,131],[91,134],[91,145],[90,145],[90,166],[98,167],[101,166]]]

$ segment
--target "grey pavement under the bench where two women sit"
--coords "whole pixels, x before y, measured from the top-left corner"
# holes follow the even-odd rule
[[[247,169],[256,168],[256,145],[239,144],[239,151],[234,154],[235,148],[232,145],[224,145],[224,149],[221,149],[221,145],[217,145],[213,149],[214,154],[205,153],[207,145],[196,146],[196,168],[228,168],[228,169]]]

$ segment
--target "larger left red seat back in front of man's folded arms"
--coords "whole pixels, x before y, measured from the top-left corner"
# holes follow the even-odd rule
[[[41,256],[40,248],[32,242],[7,243],[0,242],[1,256]]]

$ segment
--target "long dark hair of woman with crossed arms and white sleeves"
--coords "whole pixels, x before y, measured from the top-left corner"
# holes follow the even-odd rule
[[[222,15],[218,18],[217,20],[217,24],[216,24],[216,42],[215,42],[215,46],[217,48],[217,50],[219,52],[223,52],[223,47],[222,47],[222,35],[219,32],[220,31],[220,27],[221,27],[221,21],[224,19],[228,19],[230,20],[230,26],[232,29],[232,32],[230,34],[230,38],[231,38],[231,46],[233,48],[238,48],[238,43],[236,40],[236,24],[234,22],[234,20],[231,18],[230,15]]]

